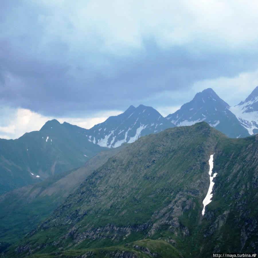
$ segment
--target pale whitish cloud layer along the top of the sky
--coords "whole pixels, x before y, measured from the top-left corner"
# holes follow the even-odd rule
[[[33,52],[41,53],[53,42],[61,42],[71,58],[78,50],[80,54],[129,54],[142,49],[146,39],[154,39],[165,48],[194,43],[219,49],[243,47],[258,39],[258,2],[251,0],[24,1],[25,4],[36,9],[38,16],[24,16],[24,8],[13,8],[15,21],[13,25],[9,23],[4,35],[15,32],[19,21],[28,19],[24,23],[26,31],[20,30],[19,37],[30,38],[30,29],[40,32],[34,34],[34,44],[38,46]],[[52,53],[45,54],[51,57]]]

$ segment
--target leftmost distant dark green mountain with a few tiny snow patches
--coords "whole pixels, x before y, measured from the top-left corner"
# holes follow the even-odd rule
[[[85,131],[51,120],[40,131],[15,140],[0,139],[0,193],[80,167],[105,149],[89,142]]]

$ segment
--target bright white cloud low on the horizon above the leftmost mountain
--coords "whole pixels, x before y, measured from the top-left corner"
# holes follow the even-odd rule
[[[18,108],[6,108],[10,113],[0,114],[2,124],[0,124],[0,138],[3,139],[16,139],[25,134],[26,132],[38,131],[48,121],[54,119],[50,116],[42,116],[31,110]],[[56,118],[60,123],[67,122],[77,125],[86,129],[91,128],[95,124],[104,122],[109,116],[116,116],[121,114],[122,111],[111,110],[91,114],[91,117],[85,118]],[[15,115],[11,115],[15,114]],[[10,116],[11,115],[11,116]],[[5,119],[12,117],[11,119]],[[5,125],[3,125],[5,121]]]

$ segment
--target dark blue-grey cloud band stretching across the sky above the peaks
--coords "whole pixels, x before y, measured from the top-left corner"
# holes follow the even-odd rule
[[[214,48],[202,40],[164,48],[155,38],[142,36],[141,47],[114,54],[100,48],[101,37],[90,34],[82,44],[80,36],[66,35],[73,30],[68,19],[51,31],[49,21],[59,22],[62,15],[17,3],[5,1],[0,11],[0,94],[1,102],[12,107],[48,116],[125,110],[131,104],[149,104],[145,99],[162,91],[187,90],[199,80],[257,69],[257,51]],[[159,101],[171,105],[168,99]]]

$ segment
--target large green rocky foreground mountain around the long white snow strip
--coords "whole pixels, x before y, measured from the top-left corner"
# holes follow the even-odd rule
[[[205,207],[213,155],[212,202]],[[205,122],[107,159],[3,257],[206,257],[258,251],[258,137]]]

